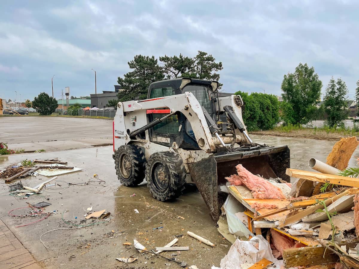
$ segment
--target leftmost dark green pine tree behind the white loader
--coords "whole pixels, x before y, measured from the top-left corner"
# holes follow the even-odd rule
[[[128,64],[133,71],[123,75],[123,78],[118,77],[117,80],[125,90],[118,92],[118,100],[109,100],[108,107],[116,107],[119,101],[146,99],[149,85],[164,79],[163,71],[154,56],[136,55]]]

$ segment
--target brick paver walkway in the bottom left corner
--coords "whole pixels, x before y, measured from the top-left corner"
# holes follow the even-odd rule
[[[0,220],[0,268],[41,269],[33,256]]]

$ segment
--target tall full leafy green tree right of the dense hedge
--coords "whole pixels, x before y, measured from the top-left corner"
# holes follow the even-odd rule
[[[299,63],[294,73],[284,75],[281,85],[283,91],[282,119],[286,123],[305,124],[311,121],[320,100],[322,81],[314,67]]]

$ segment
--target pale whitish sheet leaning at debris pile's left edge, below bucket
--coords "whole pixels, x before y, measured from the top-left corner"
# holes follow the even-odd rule
[[[248,237],[252,235],[250,230],[244,225],[244,223],[236,216],[237,212],[243,212],[244,206],[237,201],[232,195],[227,196],[227,200],[224,202],[224,210],[227,217],[229,232],[239,237]]]

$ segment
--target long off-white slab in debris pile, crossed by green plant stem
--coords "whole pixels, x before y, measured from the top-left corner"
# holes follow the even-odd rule
[[[329,213],[333,212],[348,212],[354,206],[353,201],[354,195],[347,195],[339,198],[334,203],[327,206],[327,210]],[[303,218],[304,222],[316,222],[316,221],[325,221],[328,219],[328,215],[325,211],[316,212],[309,216]]]

